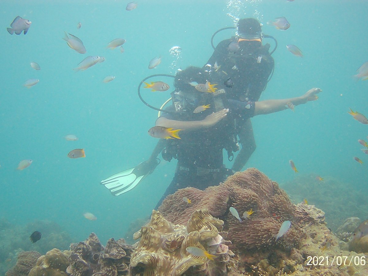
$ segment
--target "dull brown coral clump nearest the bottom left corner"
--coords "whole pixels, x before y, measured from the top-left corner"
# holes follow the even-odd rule
[[[37,259],[41,256],[37,251],[23,251],[17,256],[17,263],[9,269],[5,276],[28,275],[29,271],[36,265]]]

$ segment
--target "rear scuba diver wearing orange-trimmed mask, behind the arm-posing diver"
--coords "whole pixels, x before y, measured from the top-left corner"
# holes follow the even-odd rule
[[[211,39],[212,47],[216,33]],[[262,91],[266,89],[275,66],[271,54],[276,50],[277,42],[275,40],[276,47],[270,54],[270,45],[262,45],[263,37],[272,38],[263,35],[257,20],[241,19],[237,24],[236,36],[221,41],[204,66],[210,72],[212,82],[218,84],[216,87],[226,90],[227,98],[242,102],[258,101]],[[236,128],[242,148],[232,169],[240,171],[255,151],[256,144],[249,118],[239,121]]]

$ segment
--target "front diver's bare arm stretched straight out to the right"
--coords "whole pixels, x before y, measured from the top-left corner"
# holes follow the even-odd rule
[[[307,103],[308,97],[314,96],[321,92],[319,88],[312,88],[303,96],[282,100],[263,100],[255,102],[254,116],[262,114],[270,114],[287,109],[287,102],[293,103],[294,106]]]

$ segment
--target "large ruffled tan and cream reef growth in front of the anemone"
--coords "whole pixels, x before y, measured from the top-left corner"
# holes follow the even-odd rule
[[[226,263],[233,253],[219,231],[223,221],[208,211],[196,210],[186,226],[170,223],[156,210],[151,220],[135,233],[141,238],[131,255],[130,274],[134,275],[227,275]],[[227,244],[226,244],[227,243]],[[194,256],[186,251],[199,247],[216,255],[215,261]]]

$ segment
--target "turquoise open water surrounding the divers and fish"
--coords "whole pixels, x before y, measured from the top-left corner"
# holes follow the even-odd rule
[[[213,52],[212,34],[233,26],[233,17],[255,16],[263,32],[279,43],[273,54],[275,73],[261,100],[323,89],[318,101],[297,106],[295,113],[285,110],[252,119],[257,149],[247,167],[257,167],[282,184],[295,177],[289,166],[293,159],[301,174],[332,176],[351,189],[366,186],[368,158],[357,140],[367,139],[368,126],[347,114],[351,107],[368,116],[368,82],[352,77],[368,60],[366,1],[146,0],[138,1],[132,11],[125,10],[128,1],[101,2],[1,1],[1,217],[14,224],[51,220],[76,241],[91,232],[104,242],[124,237],[132,221],[151,213],[175,167],[175,162],[162,161],[153,174],[119,197],[99,184],[148,159],[156,145],[147,131],[157,113],[141,103],[137,86],[151,74],[203,66]],[[26,35],[6,31],[17,15],[32,21]],[[288,19],[290,29],[266,25],[281,16]],[[87,53],[70,49],[63,31],[80,38]],[[231,35],[223,31],[214,43]],[[124,53],[106,49],[115,38],[127,40]],[[272,40],[265,42],[273,46]],[[289,53],[287,44],[297,45],[304,58]],[[179,59],[169,53],[173,46],[182,49]],[[72,68],[89,55],[106,61],[74,72]],[[162,63],[148,70],[149,61],[160,55]],[[33,70],[31,61],[41,70]],[[105,84],[107,75],[116,78]],[[22,84],[29,78],[40,81],[26,89]],[[155,80],[172,86],[171,78]],[[142,95],[157,107],[169,98],[169,93]],[[66,141],[66,134],[79,140]],[[75,148],[84,148],[86,158],[69,159],[67,153]],[[355,162],[354,156],[365,163]],[[33,163],[18,171],[22,159]],[[84,212],[98,219],[86,220]]]

